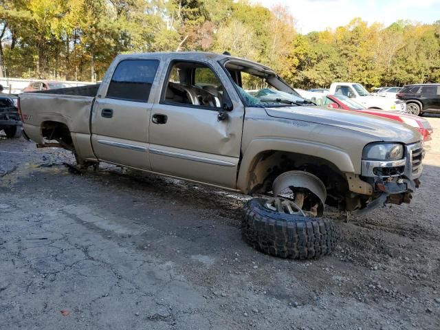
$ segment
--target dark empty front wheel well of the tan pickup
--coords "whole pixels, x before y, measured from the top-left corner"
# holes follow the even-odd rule
[[[248,192],[264,194],[272,190],[272,183],[278,175],[289,170],[305,170],[324,182],[329,197],[344,199],[349,186],[347,179],[335,164],[327,159],[285,151],[264,151],[254,157],[250,167]]]

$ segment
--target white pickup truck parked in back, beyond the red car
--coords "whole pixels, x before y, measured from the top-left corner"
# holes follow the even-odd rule
[[[330,86],[331,95],[344,95],[369,109],[406,112],[405,102],[395,98],[382,98],[371,95],[364,86],[358,83],[333,83]]]

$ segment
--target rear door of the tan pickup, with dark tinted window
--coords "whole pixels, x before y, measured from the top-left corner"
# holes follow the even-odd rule
[[[149,99],[158,65],[157,60],[120,61],[106,94],[96,98],[91,144],[99,159],[150,169],[148,123],[153,104]]]

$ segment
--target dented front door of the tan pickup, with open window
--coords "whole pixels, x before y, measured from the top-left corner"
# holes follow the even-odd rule
[[[244,108],[226,84],[216,61],[170,61],[151,113],[152,170],[235,188]]]

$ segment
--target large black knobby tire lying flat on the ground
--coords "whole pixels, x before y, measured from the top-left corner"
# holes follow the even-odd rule
[[[330,254],[336,245],[333,222],[281,214],[265,208],[265,199],[254,198],[244,206],[243,239],[256,250],[272,256],[312,259]]]

